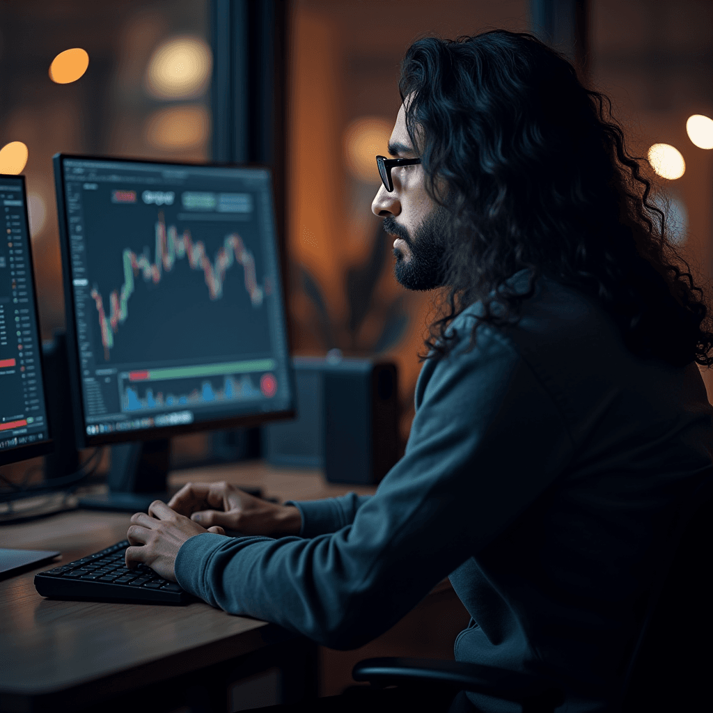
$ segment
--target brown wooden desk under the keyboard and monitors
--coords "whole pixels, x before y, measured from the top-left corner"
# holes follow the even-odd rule
[[[177,471],[170,485],[175,489],[188,482],[221,480],[260,486],[265,496],[282,502],[375,490],[330,484],[320,471],[271,468],[263,461]],[[0,542],[9,548],[61,550],[61,561],[68,562],[125,538],[128,520],[129,515],[119,513],[65,513],[5,525],[0,528]],[[275,667],[282,676],[284,699],[315,692],[316,647],[281,627],[228,615],[204,602],[168,607],[45,600],[36,593],[33,577],[47,567],[0,582],[3,713],[138,711],[142,703],[158,713],[185,709],[191,696],[198,696],[202,704],[210,698],[205,710],[236,710],[242,694],[240,689],[226,694],[228,685]],[[444,623],[443,612],[448,622]],[[320,693],[338,693],[352,682],[352,659],[409,653],[451,657],[455,633],[467,622],[463,612],[443,583],[429,601],[372,645],[356,652],[320,647]],[[438,635],[448,632],[443,645],[434,644],[435,630]],[[136,691],[140,693],[132,693]]]

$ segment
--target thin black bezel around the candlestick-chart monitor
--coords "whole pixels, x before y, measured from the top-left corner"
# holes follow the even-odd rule
[[[59,224],[60,247],[62,256],[62,282],[64,287],[64,304],[66,315],[67,333],[67,356],[69,364],[69,377],[72,392],[72,412],[75,424],[76,446],[77,448],[91,448],[93,446],[108,446],[118,443],[129,443],[131,441],[154,441],[160,438],[171,438],[182,436],[183,434],[197,433],[200,431],[225,431],[237,428],[247,428],[250,426],[261,426],[271,421],[285,421],[294,419],[297,416],[297,391],[294,381],[294,369],[292,367],[292,335],[290,329],[289,309],[287,308],[287,265],[286,256],[282,250],[284,242],[280,240],[279,225],[275,217],[275,237],[277,249],[277,262],[279,264],[280,287],[284,301],[284,322],[287,341],[287,379],[289,381],[290,392],[292,393],[292,409],[284,411],[270,411],[265,414],[251,414],[250,416],[232,416],[225,419],[212,419],[210,421],[198,421],[192,424],[181,424],[176,426],[160,426],[153,429],[137,429],[135,431],[120,431],[108,434],[89,435],[86,433],[86,422],[84,419],[84,400],[81,391],[81,366],[76,339],[76,320],[74,314],[74,290],[71,276],[71,261],[69,255],[69,229],[65,211],[65,185],[63,161],[74,160],[96,160],[96,161],[116,161],[118,163],[149,163],[153,165],[175,165],[193,166],[196,168],[255,168],[266,170],[270,176],[270,200],[272,200],[272,211],[275,216],[275,185],[273,182],[273,171],[269,165],[259,163],[215,163],[210,161],[171,161],[163,158],[129,158],[118,156],[98,156],[76,153],[56,153],[52,157],[53,173],[57,200],[57,217]]]

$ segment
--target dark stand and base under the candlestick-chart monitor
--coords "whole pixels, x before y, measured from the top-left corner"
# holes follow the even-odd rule
[[[111,446],[109,492],[80,498],[80,508],[119,513],[148,511],[155,500],[168,503],[170,438]]]

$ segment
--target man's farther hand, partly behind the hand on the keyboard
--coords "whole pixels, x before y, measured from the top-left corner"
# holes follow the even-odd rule
[[[299,535],[302,528],[302,517],[294,506],[255,498],[230,483],[188,483],[168,507],[204,528],[222,525],[245,535]]]

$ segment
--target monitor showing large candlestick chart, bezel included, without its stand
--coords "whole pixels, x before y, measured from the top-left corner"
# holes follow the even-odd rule
[[[270,171],[58,155],[55,174],[83,444],[294,415]]]

